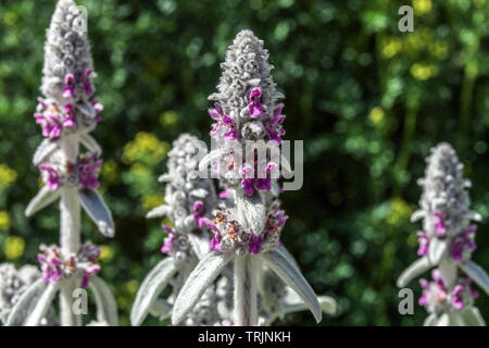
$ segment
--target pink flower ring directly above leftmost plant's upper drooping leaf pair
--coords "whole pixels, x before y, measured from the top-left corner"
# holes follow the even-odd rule
[[[99,152],[86,153],[78,156],[76,163],[71,163],[58,150],[39,164],[39,170],[43,182],[52,191],[64,185],[95,189],[99,186],[98,174],[102,165],[98,157]]]

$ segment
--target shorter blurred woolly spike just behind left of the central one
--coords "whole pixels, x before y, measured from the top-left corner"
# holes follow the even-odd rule
[[[168,257],[141,283],[130,313],[134,326],[140,325],[148,313],[161,318],[170,315],[174,297],[198,259],[209,250],[210,237],[202,228],[203,219],[210,216],[217,204],[217,196],[212,181],[199,177],[199,158],[205,151],[205,145],[198,138],[184,134],[168,152],[168,172],[160,177],[166,182],[165,203],[147,214],[147,217],[167,216],[173,222],[174,227],[163,226],[167,237],[161,250]],[[173,294],[167,300],[160,300],[158,297],[167,285],[173,286]]]

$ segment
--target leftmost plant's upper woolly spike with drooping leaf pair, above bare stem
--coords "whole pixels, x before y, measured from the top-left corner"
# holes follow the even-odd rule
[[[102,105],[93,98],[95,73],[85,21],[72,0],[58,2],[45,45],[43,98],[38,99],[35,113],[45,139],[33,161],[47,185],[33,198],[25,213],[30,216],[61,198],[65,188],[76,188],[82,207],[99,231],[113,237],[112,214],[96,191],[101,148],[89,132],[100,121]],[[78,142],[89,153],[78,156]]]

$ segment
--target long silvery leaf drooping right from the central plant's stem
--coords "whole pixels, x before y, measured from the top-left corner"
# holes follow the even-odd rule
[[[316,322],[321,322],[323,315],[317,297],[293,263],[276,250],[262,252],[260,257],[284,283],[290,286],[302,298],[309,310],[313,313]]]

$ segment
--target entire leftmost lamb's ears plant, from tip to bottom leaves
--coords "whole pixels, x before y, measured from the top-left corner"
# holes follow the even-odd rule
[[[27,216],[60,199],[60,245],[41,246],[39,262],[42,279],[34,283],[13,308],[9,325],[38,325],[59,293],[61,325],[80,325],[74,313],[73,290],[80,286],[93,290],[100,323],[117,324],[115,301],[108,286],[95,276],[100,249],[80,245],[82,207],[108,237],[114,236],[112,214],[97,192],[100,146],[89,135],[100,121],[102,105],[93,98],[95,76],[86,33],[86,17],[73,0],[60,0],[51,20],[45,45],[41,84],[34,117],[45,139],[33,162],[42,174],[45,186],[30,201]],[[79,153],[79,145],[89,152]]]

